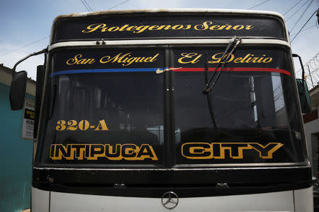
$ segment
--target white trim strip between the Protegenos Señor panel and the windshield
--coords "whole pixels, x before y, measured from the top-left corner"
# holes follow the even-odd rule
[[[49,51],[62,47],[118,47],[118,46],[140,46],[140,45],[223,45],[228,44],[231,39],[164,39],[164,40],[104,40],[105,45],[96,45],[96,40],[92,41],[69,41],[58,42],[50,45]],[[99,40],[100,41],[100,40]],[[242,39],[241,45],[281,45],[289,47],[289,42],[274,39]]]

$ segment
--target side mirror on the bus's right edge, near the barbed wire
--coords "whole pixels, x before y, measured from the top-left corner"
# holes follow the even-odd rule
[[[311,102],[307,83],[300,78],[297,78],[296,81],[301,105],[301,112],[309,113],[311,112]]]

